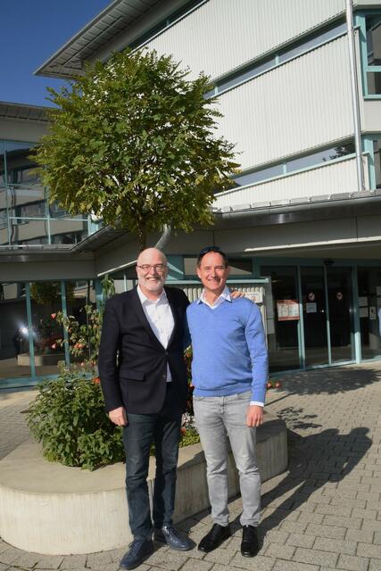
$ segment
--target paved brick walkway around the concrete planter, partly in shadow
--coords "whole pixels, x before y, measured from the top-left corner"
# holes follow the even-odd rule
[[[0,455],[27,438],[20,411],[30,396],[0,393]],[[282,389],[269,392],[268,406],[286,421],[291,461],[288,472],[263,485],[259,555],[240,555],[236,500],[235,534],[218,550],[162,547],[140,571],[381,571],[381,364],[286,377]],[[198,542],[210,525],[202,513],[181,527]],[[116,571],[123,551],[52,557],[0,541],[0,571]]]

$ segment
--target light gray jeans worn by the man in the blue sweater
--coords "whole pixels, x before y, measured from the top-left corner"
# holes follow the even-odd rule
[[[241,525],[258,525],[261,476],[255,455],[255,428],[246,426],[251,393],[194,396],[195,422],[206,458],[211,518],[228,525],[228,439],[236,460],[243,503]],[[228,438],[227,438],[228,436]]]

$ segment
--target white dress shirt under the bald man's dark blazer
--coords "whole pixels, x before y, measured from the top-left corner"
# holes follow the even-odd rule
[[[158,341],[166,349],[172,335],[175,320],[173,319],[170,303],[167,294],[162,290],[162,295],[157,300],[150,300],[143,294],[140,285],[137,285],[137,295],[145,312],[145,317],[156,335]],[[170,376],[170,365],[167,364],[167,383],[172,380]]]

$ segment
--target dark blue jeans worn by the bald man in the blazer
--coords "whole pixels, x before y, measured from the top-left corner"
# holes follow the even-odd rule
[[[172,523],[181,413],[172,383],[167,386],[166,398],[160,412],[128,413],[128,426],[123,430],[123,442],[126,452],[129,526],[134,537],[151,537],[153,525],[162,527]],[[152,443],[156,458],[153,523],[147,486]]]

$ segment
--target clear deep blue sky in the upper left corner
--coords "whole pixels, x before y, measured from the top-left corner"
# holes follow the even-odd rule
[[[111,0],[0,0],[0,101],[51,104],[46,86],[62,80],[37,77],[46,62]]]

